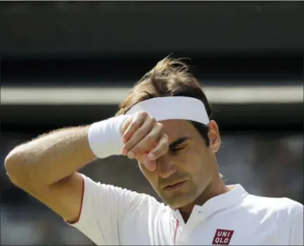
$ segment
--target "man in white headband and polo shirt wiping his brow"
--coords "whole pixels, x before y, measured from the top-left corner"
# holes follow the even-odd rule
[[[303,245],[303,205],[225,186],[210,115],[186,65],[165,58],[115,117],[24,143],[6,157],[6,170],[97,245]],[[166,205],[77,172],[96,157],[120,154],[138,160]]]

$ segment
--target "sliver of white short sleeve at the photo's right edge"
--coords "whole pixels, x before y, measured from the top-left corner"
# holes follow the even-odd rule
[[[299,202],[292,201],[289,209],[290,239],[289,245],[303,245],[303,205]]]

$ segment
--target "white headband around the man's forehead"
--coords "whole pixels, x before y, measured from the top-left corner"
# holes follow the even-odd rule
[[[203,102],[187,96],[151,98],[135,104],[125,114],[134,115],[137,112],[147,112],[158,122],[166,119],[187,119],[205,125],[209,123]]]

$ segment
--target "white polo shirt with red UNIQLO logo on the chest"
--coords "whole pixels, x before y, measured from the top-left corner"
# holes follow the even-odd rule
[[[155,198],[84,177],[80,219],[72,226],[96,245],[303,245],[303,205],[262,198],[236,185],[195,206],[184,224]]]

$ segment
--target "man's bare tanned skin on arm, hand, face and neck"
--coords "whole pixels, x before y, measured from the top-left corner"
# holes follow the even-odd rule
[[[139,161],[151,186],[187,221],[194,205],[227,191],[217,170],[215,153],[220,134],[213,121],[210,146],[185,120],[156,122],[141,112],[122,126],[121,152]],[[96,157],[88,143],[88,129],[58,129],[18,145],[8,154],[9,179],[67,221],[77,221],[82,207],[82,176],[77,171]],[[180,139],[184,139],[181,141]],[[172,143],[175,144],[172,148]],[[170,146],[171,145],[171,146]],[[175,151],[178,149],[179,151]],[[185,180],[178,190],[165,190],[167,183]]]

